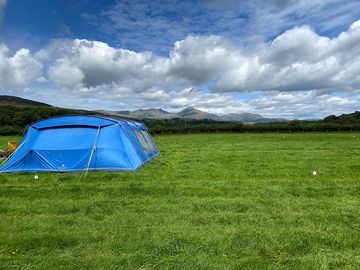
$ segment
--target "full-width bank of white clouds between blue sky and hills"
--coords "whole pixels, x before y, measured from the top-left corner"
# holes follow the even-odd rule
[[[332,109],[349,109],[360,90],[358,44],[360,21],[333,38],[304,25],[252,46],[222,36],[188,36],[167,57],[80,39],[56,40],[35,53],[21,49],[11,56],[2,44],[0,89],[44,85],[84,100],[101,97],[111,104],[106,107],[116,107],[116,98],[116,109],[197,106],[221,113],[241,107],[267,115],[281,110],[284,116],[309,112],[307,103],[314,110],[319,100]],[[237,98],[251,93],[256,95]],[[293,112],[284,104],[292,104]],[[321,113],[326,111],[323,107]]]

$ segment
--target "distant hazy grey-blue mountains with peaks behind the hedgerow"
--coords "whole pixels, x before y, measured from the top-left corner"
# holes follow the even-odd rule
[[[243,122],[243,123],[269,123],[269,122],[287,122],[282,118],[265,118],[260,114],[254,113],[229,113],[217,115],[198,110],[194,107],[187,107],[177,113],[171,113],[163,109],[141,109],[135,111],[99,111],[106,115],[135,118],[135,119],[191,119],[191,120],[214,120],[223,122]]]

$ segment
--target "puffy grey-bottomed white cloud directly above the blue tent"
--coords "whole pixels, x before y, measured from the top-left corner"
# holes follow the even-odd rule
[[[79,39],[56,41],[37,56],[50,60],[51,80],[72,89],[90,89],[111,83],[142,88],[141,83],[154,74],[156,63],[156,57],[148,52],[136,53],[115,49],[103,42]]]

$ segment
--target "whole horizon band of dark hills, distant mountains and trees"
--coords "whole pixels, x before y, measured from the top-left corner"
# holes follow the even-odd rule
[[[20,131],[22,127],[29,123],[46,119],[49,117],[61,116],[61,115],[109,115],[118,116],[123,118],[141,119],[147,120],[149,125],[151,123],[157,123],[158,120],[162,123],[174,124],[184,123],[183,120],[189,119],[190,122],[194,121],[221,121],[218,124],[227,122],[231,123],[270,123],[270,122],[283,122],[281,125],[286,124],[289,120],[280,118],[265,118],[259,114],[253,113],[230,113],[225,115],[216,115],[207,113],[193,107],[185,108],[179,112],[167,112],[163,109],[142,109],[135,111],[87,111],[80,109],[66,109],[55,107],[46,103],[24,99],[15,96],[0,95],[0,129],[3,127],[5,131],[8,127],[15,126]],[[165,121],[166,120],[166,121]],[[311,122],[310,120],[296,120],[291,121],[290,124],[294,123],[306,123]],[[336,125],[347,125],[345,130],[352,130],[355,125],[360,124],[360,111],[354,113],[342,114],[339,116],[329,115],[323,120],[313,120],[317,123],[332,123]],[[327,127],[328,128],[328,127]],[[336,128],[339,128],[337,126]],[[6,131],[8,132],[8,131]],[[0,132],[1,133],[1,132]],[[8,133],[6,133],[8,134]],[[9,133],[10,134],[10,133]]]

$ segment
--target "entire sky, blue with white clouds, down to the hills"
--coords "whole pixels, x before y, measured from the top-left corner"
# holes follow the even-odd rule
[[[0,95],[114,111],[359,110],[359,0],[0,0]]]

